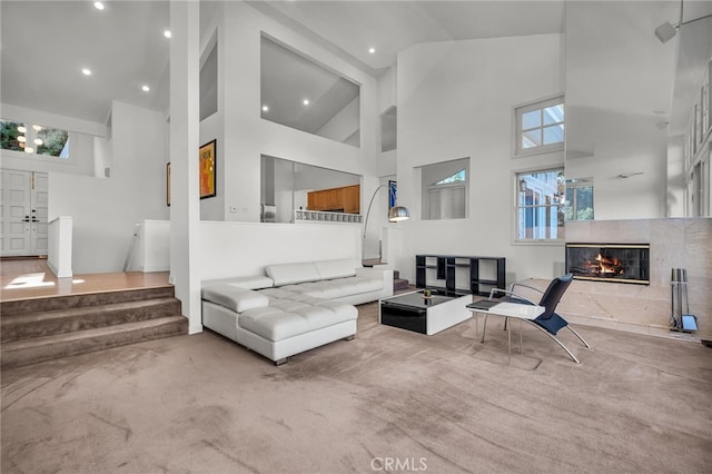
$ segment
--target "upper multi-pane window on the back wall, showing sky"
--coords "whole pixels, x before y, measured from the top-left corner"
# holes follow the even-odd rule
[[[515,109],[516,156],[563,150],[564,97]]]

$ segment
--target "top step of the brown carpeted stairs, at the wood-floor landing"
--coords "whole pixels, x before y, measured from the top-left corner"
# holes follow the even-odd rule
[[[7,316],[27,313],[44,313],[57,309],[128,303],[141,299],[169,298],[174,297],[174,292],[175,289],[172,285],[167,285],[155,288],[53,296],[48,298],[16,299],[10,302],[0,302],[0,314],[2,314],[2,317],[4,318]]]

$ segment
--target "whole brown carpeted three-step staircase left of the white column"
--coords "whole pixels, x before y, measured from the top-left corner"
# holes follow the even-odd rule
[[[2,368],[188,334],[174,287],[0,303]]]

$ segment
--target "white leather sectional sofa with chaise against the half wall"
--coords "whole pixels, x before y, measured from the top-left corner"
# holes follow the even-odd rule
[[[393,270],[357,259],[268,265],[265,275],[202,282],[202,325],[279,365],[353,339],[354,305],[392,295]]]

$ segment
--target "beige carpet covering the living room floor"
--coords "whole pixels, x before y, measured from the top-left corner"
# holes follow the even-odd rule
[[[491,318],[377,323],[281,366],[214,333],[2,372],[2,473],[709,473],[712,349]],[[482,319],[479,319],[482,326]],[[482,330],[482,327],[479,327]]]

